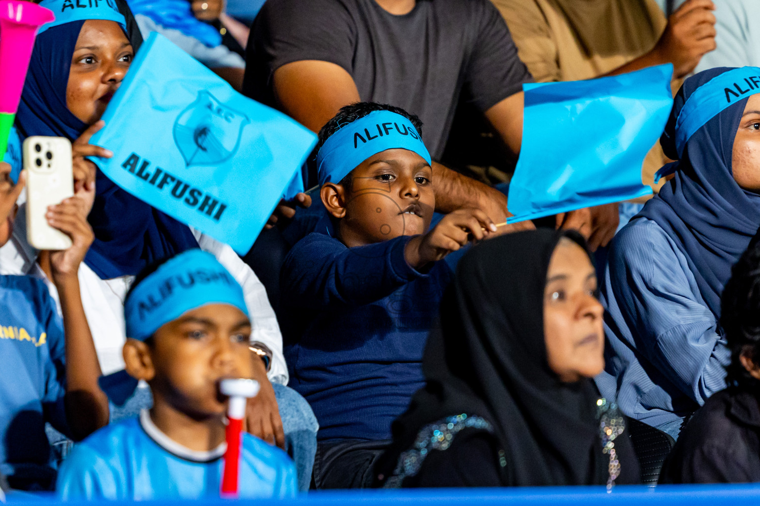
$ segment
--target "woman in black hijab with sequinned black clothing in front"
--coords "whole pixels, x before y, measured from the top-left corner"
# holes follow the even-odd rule
[[[376,486],[638,483],[604,366],[603,309],[582,237],[508,234],[473,248],[444,296],[426,387],[394,422]]]

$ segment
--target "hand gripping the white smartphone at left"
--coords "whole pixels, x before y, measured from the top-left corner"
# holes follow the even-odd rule
[[[93,243],[95,235],[87,223],[88,211],[87,203],[78,196],[72,196],[57,206],[48,207],[45,217],[49,225],[71,237],[73,243],[68,250],[50,253],[50,266],[55,282],[71,276],[76,277],[79,264]]]

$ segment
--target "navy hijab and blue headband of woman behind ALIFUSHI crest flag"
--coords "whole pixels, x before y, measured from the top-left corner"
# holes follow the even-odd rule
[[[53,11],[55,21],[40,29],[34,43],[16,124],[23,137],[74,141],[87,129],[66,105],[79,32],[89,19],[115,21],[125,30],[125,17],[113,0],[43,0],[40,5]],[[95,203],[88,217],[95,240],[84,261],[100,278],[136,275],[150,263],[198,247],[186,225],[131,196],[100,170],[95,184]]]

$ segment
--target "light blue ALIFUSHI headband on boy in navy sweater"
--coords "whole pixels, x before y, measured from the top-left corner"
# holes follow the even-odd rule
[[[319,185],[337,183],[359,164],[385,149],[409,149],[432,163],[420,134],[402,115],[375,111],[337,130],[317,153]]]

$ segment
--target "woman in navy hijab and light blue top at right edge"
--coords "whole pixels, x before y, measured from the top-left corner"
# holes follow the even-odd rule
[[[760,228],[760,68],[690,77],[660,139],[673,178],[613,240],[602,284],[605,396],[677,438],[725,388],[720,294]]]

